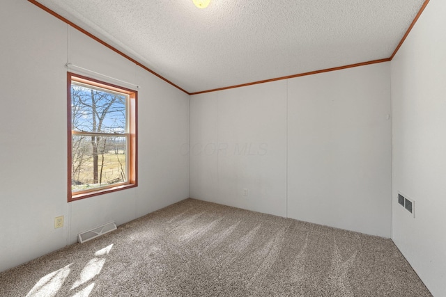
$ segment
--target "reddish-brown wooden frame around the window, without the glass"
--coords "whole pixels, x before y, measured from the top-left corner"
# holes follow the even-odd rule
[[[128,150],[130,156],[128,156],[129,164],[128,164],[128,182],[125,184],[112,184],[105,187],[100,187],[97,189],[81,191],[81,193],[72,193],[72,176],[71,176],[71,168],[72,168],[72,110],[71,110],[71,83],[72,81],[78,83],[86,83],[87,85],[94,86],[97,88],[103,88],[105,90],[110,90],[118,93],[125,93],[129,95],[130,100],[128,104],[128,125],[129,125],[129,143]],[[112,83],[107,83],[105,81],[99,81],[98,79],[92,79],[91,77],[84,77],[80,74],[75,74],[72,72],[67,72],[67,134],[68,134],[68,179],[67,179],[67,189],[68,189],[68,202],[81,200],[84,198],[89,198],[97,195],[102,195],[105,193],[112,193],[116,191],[121,191],[126,188],[134,188],[138,186],[138,117],[137,117],[137,97],[138,92],[136,90],[131,90],[128,88],[123,88],[121,86],[116,86]]]

